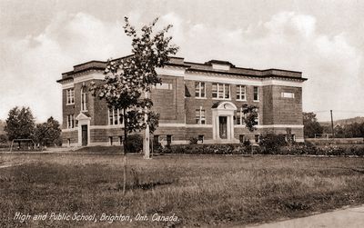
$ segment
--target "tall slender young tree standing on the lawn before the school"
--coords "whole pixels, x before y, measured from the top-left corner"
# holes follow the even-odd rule
[[[153,33],[157,23],[145,25],[141,34],[136,33],[134,26],[125,17],[124,31],[132,38],[132,55],[108,60],[105,69],[104,84],[91,84],[91,92],[100,99],[105,99],[109,108],[122,110],[120,118],[124,119],[124,186],[126,192],[126,142],[127,134],[141,131],[150,125],[153,132],[157,127],[158,114],[151,111],[153,105],[148,93],[153,85],[161,84],[156,68],[167,64],[168,55],[175,55],[178,47],[170,45],[171,36],[167,36],[172,25]]]

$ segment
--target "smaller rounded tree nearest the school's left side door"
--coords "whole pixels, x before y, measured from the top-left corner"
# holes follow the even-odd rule
[[[36,124],[35,126],[35,142],[42,145],[57,144],[61,135],[61,128],[52,116],[45,123]]]

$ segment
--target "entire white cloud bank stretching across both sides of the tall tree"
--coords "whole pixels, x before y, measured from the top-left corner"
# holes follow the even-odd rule
[[[136,27],[146,19],[138,11],[130,11],[129,17]],[[169,12],[160,16],[157,28],[168,24],[174,25],[173,43],[181,47],[177,55],[187,61],[221,59],[242,67],[302,71],[308,77],[304,110],[364,109],[358,103],[364,85],[363,51],[350,45],[345,33],[320,33],[320,21],[313,15],[280,12],[246,26],[228,27]],[[59,12],[39,35],[1,39],[6,58],[0,62],[0,118],[15,105],[28,105],[39,121],[50,115],[61,120],[61,89],[56,80],[74,64],[129,54],[130,39],[122,25],[82,12]]]

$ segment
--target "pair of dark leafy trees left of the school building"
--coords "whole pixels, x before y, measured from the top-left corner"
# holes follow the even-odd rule
[[[9,111],[5,120],[4,133],[0,133],[0,144],[8,144],[15,139],[31,139],[35,144],[43,146],[60,145],[60,124],[52,116],[45,123],[35,124],[35,117],[29,107],[16,106]]]

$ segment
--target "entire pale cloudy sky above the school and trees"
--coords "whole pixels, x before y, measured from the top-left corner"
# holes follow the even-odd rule
[[[364,1],[0,0],[0,119],[29,106],[61,121],[61,74],[130,54],[124,16],[173,25],[177,56],[300,71],[303,110],[321,121],[364,116]]]

